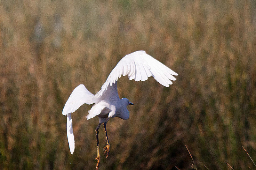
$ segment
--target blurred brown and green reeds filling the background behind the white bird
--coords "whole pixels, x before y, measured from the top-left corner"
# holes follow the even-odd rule
[[[0,1],[0,169],[94,169],[98,119],[72,115],[71,155],[62,109],[136,50],[179,76],[119,79],[135,106],[108,122],[100,169],[192,169],[185,144],[199,169],[255,168],[242,148],[256,161],[255,33],[254,0]]]

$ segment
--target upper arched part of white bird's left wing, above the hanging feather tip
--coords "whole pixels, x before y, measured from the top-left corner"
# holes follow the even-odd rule
[[[62,115],[73,113],[83,104],[92,104],[94,95],[89,92],[84,85],[78,85],[70,94],[68,101],[66,102]]]

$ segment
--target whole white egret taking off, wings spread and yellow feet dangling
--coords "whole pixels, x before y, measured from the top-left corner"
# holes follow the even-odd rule
[[[121,119],[127,120],[130,116],[127,110],[128,105],[132,104],[128,99],[120,99],[117,93],[117,79],[121,76],[128,76],[130,80],[135,81],[145,81],[149,77],[153,76],[157,82],[165,87],[169,87],[172,81],[176,78],[173,76],[178,76],[177,73],[172,71],[170,68],[165,66],[163,63],[159,62],[152,56],[148,55],[145,51],[135,51],[129,55],[125,55],[116,65],[116,67],[109,74],[106,82],[101,86],[101,90],[93,95],[89,92],[84,85],[78,85],[71,95],[69,96],[62,115],[67,115],[67,136],[68,144],[71,154],[75,150],[75,139],[72,128],[71,113],[75,112],[83,104],[91,105],[91,110],[89,110],[89,115],[87,115],[87,120],[95,116],[98,116],[100,121],[95,129],[96,141],[97,141],[97,157],[95,158],[96,169],[99,168],[100,164],[100,150],[99,150],[99,128],[103,123],[105,130],[107,145],[104,147],[104,154],[108,158],[110,144],[108,141],[106,125],[110,118],[119,117]]]

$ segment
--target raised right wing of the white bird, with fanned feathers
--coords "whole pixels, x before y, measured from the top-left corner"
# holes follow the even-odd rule
[[[108,85],[112,86],[121,75],[128,75],[130,80],[134,79],[135,81],[145,81],[148,77],[153,76],[158,83],[165,87],[169,87],[172,81],[176,80],[173,76],[178,76],[177,73],[148,55],[145,51],[135,51],[125,55],[117,63],[106,82],[102,85],[100,95],[107,90]]]

